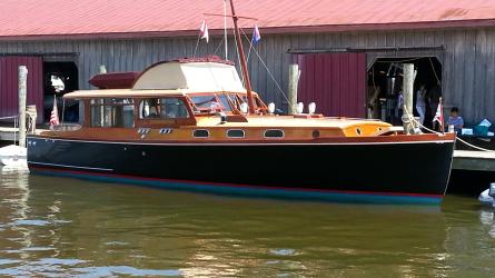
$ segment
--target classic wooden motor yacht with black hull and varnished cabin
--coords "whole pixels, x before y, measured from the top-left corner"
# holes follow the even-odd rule
[[[129,89],[65,95],[82,103],[85,118],[28,136],[30,170],[229,195],[443,199],[455,135],[406,135],[379,120],[314,111],[275,115],[251,90],[238,49],[244,83],[230,61],[185,58],[150,66]]]

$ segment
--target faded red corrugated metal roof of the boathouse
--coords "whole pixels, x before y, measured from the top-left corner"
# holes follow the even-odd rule
[[[495,26],[494,0],[237,0],[264,32]],[[191,36],[222,0],[2,0],[0,38]],[[221,17],[207,17],[222,29]],[[229,22],[231,26],[231,22]],[[251,20],[241,20],[251,28]],[[215,31],[212,31],[215,33]]]

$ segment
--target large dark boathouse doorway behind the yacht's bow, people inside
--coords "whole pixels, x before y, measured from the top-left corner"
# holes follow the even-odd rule
[[[424,125],[432,128],[438,99],[442,97],[442,63],[436,57],[378,58],[368,70],[367,117],[402,125],[403,63],[414,63],[417,76],[414,82],[414,116],[418,90],[424,86]]]

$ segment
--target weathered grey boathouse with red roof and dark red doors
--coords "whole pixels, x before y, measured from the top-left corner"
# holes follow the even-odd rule
[[[392,120],[399,64],[412,62],[416,87],[442,95],[445,109],[459,107],[469,125],[495,120],[494,1],[235,4],[238,14],[248,17],[240,26],[250,78],[267,103],[287,110],[281,91],[287,93],[289,64],[297,63],[298,99],[315,101],[317,111]],[[91,88],[88,80],[100,66],[108,72],[141,71],[179,57],[225,56],[224,18],[211,14],[224,12],[222,0],[20,0],[0,1],[0,117],[17,113],[19,64],[29,69],[28,105],[36,105],[43,113],[38,119],[46,121],[52,96]],[[204,19],[208,43],[198,39]],[[236,61],[232,23],[227,24],[227,52]],[[261,40],[250,48],[255,24]]]

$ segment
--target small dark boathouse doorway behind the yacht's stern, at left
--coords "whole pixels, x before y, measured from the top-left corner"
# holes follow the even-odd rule
[[[63,107],[62,96],[78,89],[79,73],[75,62],[43,62],[43,121],[50,121],[53,96],[57,96],[59,117],[62,117],[63,110],[63,121],[77,122],[79,103],[66,101]]]

